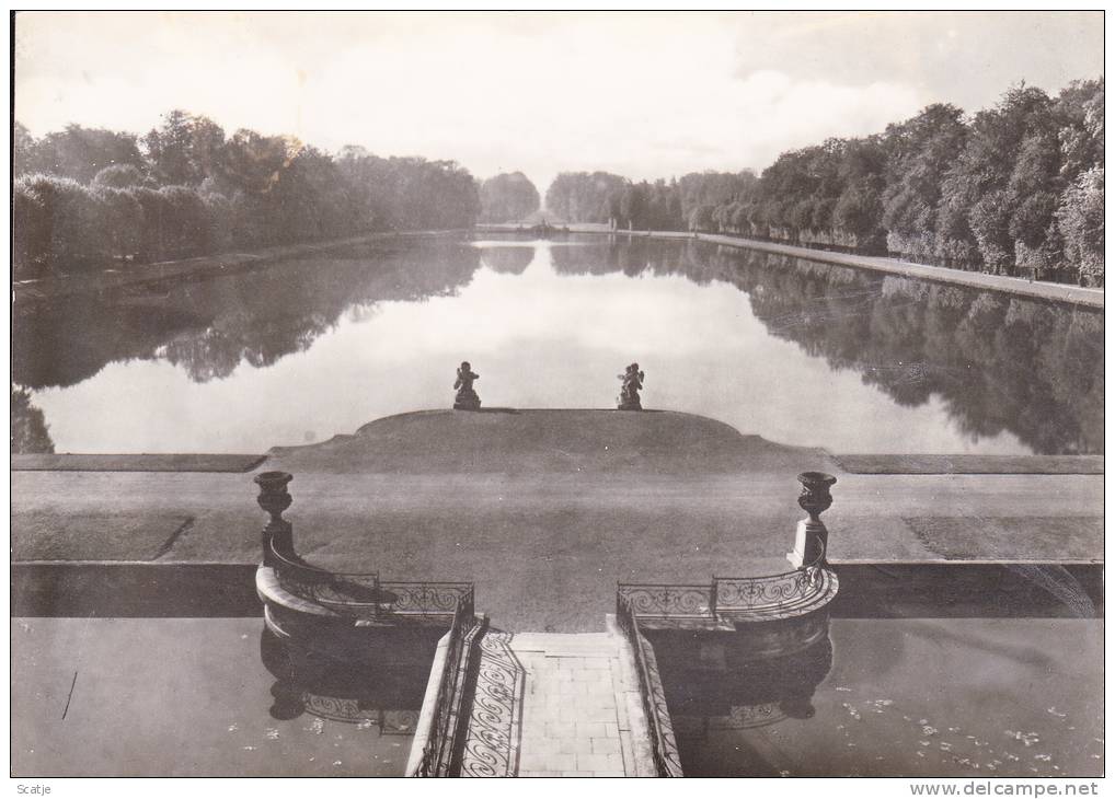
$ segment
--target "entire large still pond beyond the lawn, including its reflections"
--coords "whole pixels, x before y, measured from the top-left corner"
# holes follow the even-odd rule
[[[400,241],[17,305],[56,451],[262,452],[449,407],[643,406],[833,452],[1103,451],[1103,315],[700,242]]]

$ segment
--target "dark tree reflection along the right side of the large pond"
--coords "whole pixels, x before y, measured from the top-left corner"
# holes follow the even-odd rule
[[[552,252],[564,273],[731,283],[773,335],[859,372],[899,405],[940,397],[972,439],[1009,431],[1040,454],[1103,452],[1101,313],[692,242]]]

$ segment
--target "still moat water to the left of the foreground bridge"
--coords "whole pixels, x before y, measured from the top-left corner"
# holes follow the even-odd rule
[[[443,632],[353,656],[258,617],[17,617],[11,772],[403,777]]]

